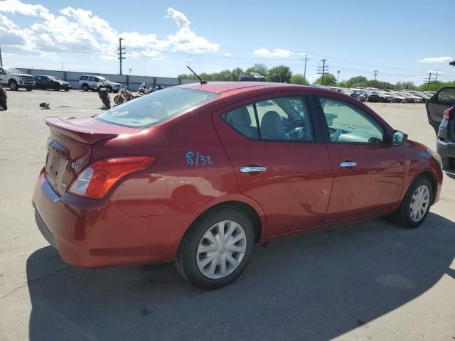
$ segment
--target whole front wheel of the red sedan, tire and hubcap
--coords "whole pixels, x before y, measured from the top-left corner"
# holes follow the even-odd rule
[[[408,229],[418,227],[427,217],[432,200],[432,184],[427,177],[419,176],[407,189],[405,197],[398,210],[393,213],[392,219],[396,224]]]

